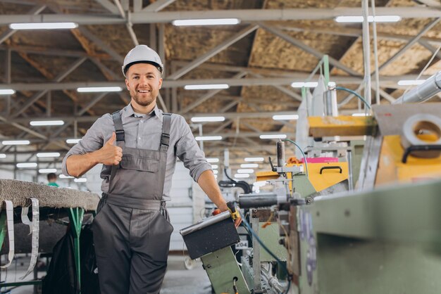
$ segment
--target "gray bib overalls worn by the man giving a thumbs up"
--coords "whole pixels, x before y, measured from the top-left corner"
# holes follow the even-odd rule
[[[173,231],[162,201],[170,114],[163,114],[158,151],[126,147],[120,111],[112,117],[123,158],[92,225],[99,286],[103,294],[159,293]]]

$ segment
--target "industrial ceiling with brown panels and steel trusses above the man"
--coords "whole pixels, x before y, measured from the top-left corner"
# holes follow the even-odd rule
[[[373,83],[373,103],[391,103],[407,88],[397,82],[416,79],[433,56],[421,79],[441,70],[441,3],[380,0],[375,1],[375,13],[401,18],[376,24],[380,87]],[[304,82],[325,54],[332,81],[363,89],[361,24],[337,23],[339,15],[361,15],[361,1],[0,0],[0,89],[15,90],[0,96],[0,136],[30,141],[24,147],[0,146],[0,153],[19,154],[27,161],[35,159],[36,151],[66,153],[72,146],[66,139],[80,138],[97,117],[128,104],[120,66],[135,44],[147,44],[165,60],[160,108],[185,116],[189,123],[195,116],[225,117],[223,122],[192,125],[195,136],[223,137],[204,142],[208,157],[221,156],[225,148],[231,158],[271,155],[274,141],[259,135],[283,133],[294,139],[296,123],[304,122],[275,121],[272,116],[297,112],[301,89],[290,85]],[[239,18],[240,23],[172,24],[191,18]],[[8,27],[42,22],[73,22],[78,27]],[[371,30],[371,45],[372,36]],[[229,89],[184,89],[191,84],[228,84]],[[123,91],[77,91],[103,86]],[[342,113],[360,111],[353,96],[339,92],[337,99]],[[65,123],[30,125],[42,119]],[[12,164],[16,158],[1,161]]]

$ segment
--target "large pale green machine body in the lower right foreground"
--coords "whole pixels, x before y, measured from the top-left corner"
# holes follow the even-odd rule
[[[440,191],[428,181],[300,208],[294,293],[440,293]]]

